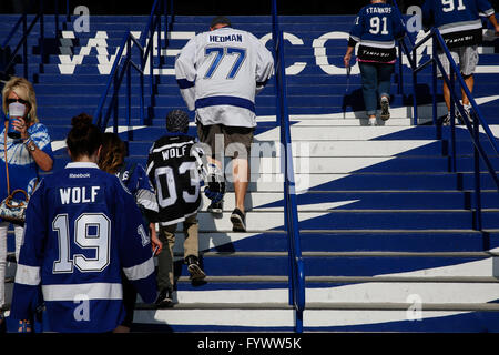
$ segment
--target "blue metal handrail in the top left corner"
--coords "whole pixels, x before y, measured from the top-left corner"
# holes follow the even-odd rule
[[[12,69],[12,67],[16,64],[16,57],[19,52],[19,50],[22,47],[22,63],[23,63],[23,77],[28,79],[29,71],[28,71],[28,37],[31,33],[31,30],[34,28],[37,23],[40,26],[40,38],[39,38],[39,44],[40,44],[40,64],[43,64],[44,59],[44,40],[45,40],[45,21],[44,21],[44,1],[38,0],[39,8],[38,12],[34,16],[34,18],[31,20],[31,23],[28,26],[28,13],[24,12],[21,14],[19,20],[16,22],[16,24],[12,27],[11,31],[7,36],[7,38],[1,43],[0,50],[2,52],[7,52],[7,48],[9,45],[9,42],[12,40],[12,38],[18,32],[18,29],[22,24],[22,37],[19,40],[19,42],[13,45],[14,50],[10,53],[10,58],[6,60],[6,63],[3,68],[0,69],[0,72],[3,74],[8,74],[9,71]],[[60,29],[59,29],[59,1],[54,0],[54,17],[55,17],[55,36],[60,36]],[[65,1],[65,21],[70,20],[69,16],[69,0]]]

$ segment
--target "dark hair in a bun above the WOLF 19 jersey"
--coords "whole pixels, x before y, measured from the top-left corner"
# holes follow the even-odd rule
[[[68,133],[65,143],[71,152],[73,160],[79,156],[93,155],[99,146],[102,145],[102,133],[99,128],[92,123],[92,116],[86,113],[80,113],[71,119],[73,126]]]

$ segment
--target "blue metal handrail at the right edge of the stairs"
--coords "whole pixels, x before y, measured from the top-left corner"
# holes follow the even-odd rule
[[[417,65],[417,49],[425,44],[427,41],[432,41],[432,51],[431,51],[431,58],[424,62],[422,64]],[[456,172],[457,171],[457,163],[456,163],[456,122],[455,122],[455,109],[457,109],[465,122],[465,125],[471,136],[471,142],[473,143],[473,173],[475,173],[475,223],[473,229],[477,231],[482,230],[482,216],[481,216],[481,186],[480,186],[480,159],[485,163],[488,173],[492,178],[493,182],[496,183],[496,186],[499,192],[499,179],[496,173],[496,170],[492,166],[492,163],[487,154],[487,152],[483,150],[483,146],[480,142],[480,125],[482,126],[486,136],[488,139],[488,142],[492,145],[493,151],[497,156],[499,156],[499,148],[497,143],[497,139],[493,136],[492,132],[490,131],[490,128],[485,120],[483,115],[480,112],[480,109],[478,108],[477,102],[475,101],[475,98],[472,97],[471,92],[468,89],[468,85],[465,82],[465,79],[462,78],[460,71],[458,70],[458,67],[456,62],[452,59],[452,55],[450,54],[449,49],[447,48],[447,44],[441,37],[440,31],[437,28],[432,28],[424,39],[421,39],[418,43],[416,43],[411,51],[407,50],[407,47],[401,45],[404,53],[407,55],[410,68],[413,70],[413,88],[414,88],[414,119],[417,124],[418,113],[417,113],[417,98],[416,98],[416,75],[420,71],[422,71],[428,65],[431,65],[432,71],[432,122],[437,126],[437,138],[441,138],[441,126],[437,122],[437,68],[442,73],[442,79],[446,82],[447,87],[450,91],[450,171]],[[447,57],[447,60],[449,61],[449,73],[444,69],[444,65],[438,58],[437,49],[440,49],[445,55]],[[457,79],[457,81],[456,81]],[[471,104],[471,115],[472,121],[470,122],[468,115],[466,114],[465,108],[459,101],[458,95],[455,92],[456,82],[459,84],[460,89],[466,93],[466,95],[469,99],[469,102]]]

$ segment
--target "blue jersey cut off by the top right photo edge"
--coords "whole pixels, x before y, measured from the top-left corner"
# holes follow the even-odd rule
[[[426,0],[422,19],[426,28],[439,29],[449,48],[475,45],[482,40],[480,13],[495,13],[487,0]]]

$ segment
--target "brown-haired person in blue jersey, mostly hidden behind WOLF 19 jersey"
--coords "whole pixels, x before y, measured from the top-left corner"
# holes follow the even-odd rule
[[[151,232],[151,243],[155,253],[161,253],[163,244],[156,237],[155,224],[150,222],[157,213],[157,202],[154,189],[141,164],[125,162],[126,146],[116,133],[106,132],[102,135],[102,150],[99,168],[108,173],[115,174],[130,191],[141,209],[143,217],[147,221]],[[125,318],[115,329],[115,333],[130,332],[133,324],[133,312],[136,303],[136,291],[126,277],[123,277],[123,303]]]

